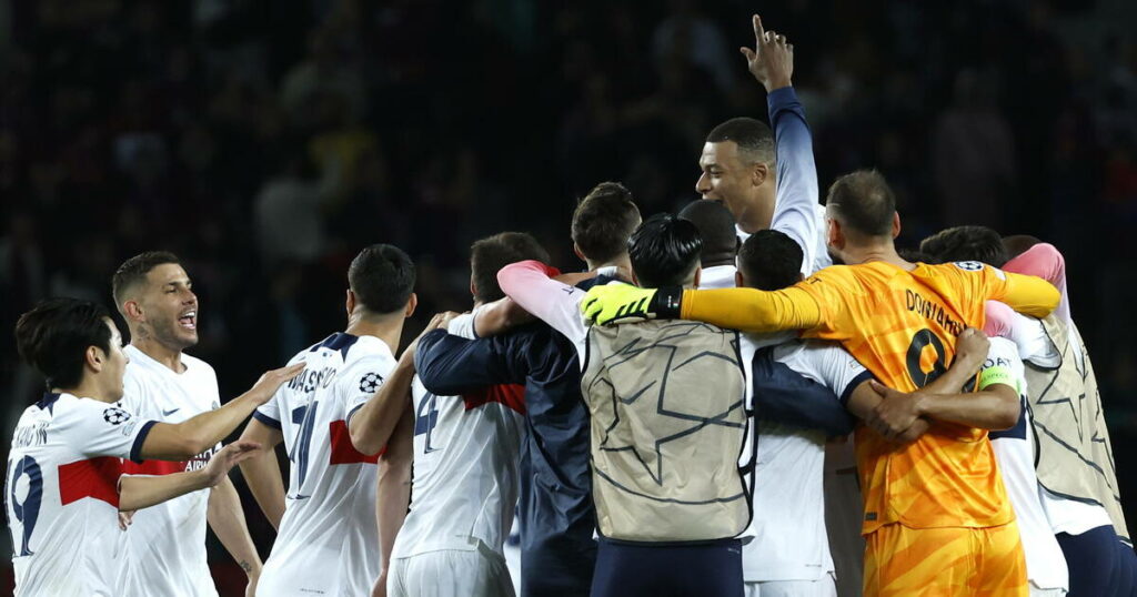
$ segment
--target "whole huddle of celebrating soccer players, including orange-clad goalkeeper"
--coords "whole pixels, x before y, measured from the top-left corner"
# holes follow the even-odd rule
[[[126,347],[89,301],[24,314],[48,391],[8,461],[16,594],[216,595],[208,524],[248,595],[513,595],[516,514],[531,596],[1137,595],[1061,255],[978,226],[898,251],[875,172],[822,207],[792,45],[753,25],[770,127],[711,132],[705,200],[641,221],[598,184],[586,273],[475,242],[471,312],[400,355],[415,266],[389,244],[352,260],[342,332],[224,405],[172,254],[114,276]],[[263,564],[234,465],[277,530]]]

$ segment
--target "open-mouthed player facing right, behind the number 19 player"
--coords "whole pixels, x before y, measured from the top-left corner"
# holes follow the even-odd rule
[[[149,251],[115,272],[113,293],[131,332],[122,406],[146,418],[177,423],[221,407],[217,375],[183,353],[198,343],[199,304],[176,256]],[[205,466],[219,445],[183,463],[143,462],[127,472],[168,474]],[[241,499],[226,478],[217,487],[169,500],[133,516],[125,533],[130,592],[215,597],[206,554],[206,522],[244,570],[251,595],[260,557],[244,523]]]

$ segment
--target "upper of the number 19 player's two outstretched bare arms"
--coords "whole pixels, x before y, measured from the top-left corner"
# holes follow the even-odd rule
[[[268,401],[282,383],[304,371],[304,363],[273,370],[249,391],[216,411],[201,413],[181,423],[152,423],[139,454],[132,459],[188,461],[214,447],[233,432],[258,406]]]

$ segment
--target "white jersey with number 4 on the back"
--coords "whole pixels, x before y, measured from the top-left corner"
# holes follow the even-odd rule
[[[434,396],[415,376],[414,480],[410,512],[392,558],[438,549],[503,544],[517,503],[524,433],[524,387],[495,385],[466,396]]]

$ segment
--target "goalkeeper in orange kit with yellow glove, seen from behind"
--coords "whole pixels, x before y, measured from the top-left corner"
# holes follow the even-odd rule
[[[658,290],[609,284],[581,305],[606,324],[622,318],[697,320],[750,332],[802,330],[841,342],[891,395],[856,432],[864,489],[864,595],[1026,596],[1026,563],[1011,503],[987,431],[1019,417],[1014,392],[935,395],[919,390],[946,371],[956,338],[982,327],[984,301],[1034,316],[1059,291],[1034,277],[962,262],[912,264],[894,246],[901,222],[883,176],[838,179],[827,200],[828,246],[850,265],[821,270],[794,287]],[[912,443],[886,437],[931,422]],[[874,430],[882,433],[877,433]]]

